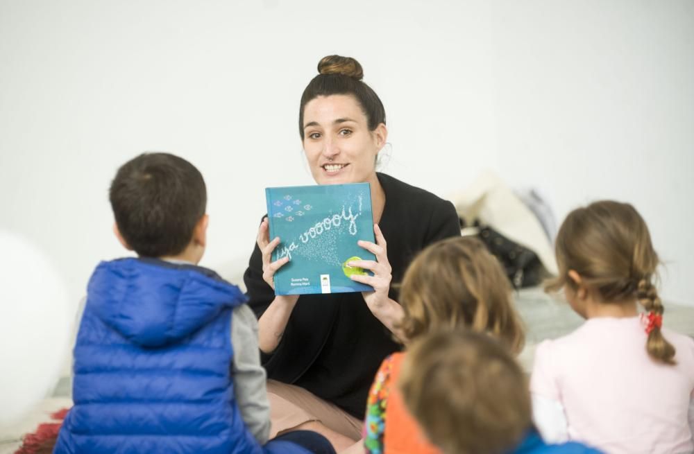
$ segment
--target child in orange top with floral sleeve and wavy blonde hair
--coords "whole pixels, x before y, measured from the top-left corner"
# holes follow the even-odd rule
[[[441,329],[467,327],[489,333],[514,353],[523,346],[520,317],[500,263],[477,239],[448,238],[423,250],[407,268],[400,289],[407,342]],[[394,383],[405,355],[386,358],[366,405],[368,453],[438,453],[405,410]]]

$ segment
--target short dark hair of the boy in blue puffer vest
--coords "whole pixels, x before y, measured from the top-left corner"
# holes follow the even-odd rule
[[[111,182],[111,208],[124,240],[139,256],[180,254],[205,215],[203,175],[183,158],[143,153]]]

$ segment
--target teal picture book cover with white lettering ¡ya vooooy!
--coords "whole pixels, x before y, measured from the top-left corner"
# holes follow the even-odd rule
[[[350,279],[371,274],[347,265],[374,260],[357,241],[374,242],[369,183],[266,188],[270,239],[280,237],[272,260],[289,256],[275,273],[276,295],[373,290]]]

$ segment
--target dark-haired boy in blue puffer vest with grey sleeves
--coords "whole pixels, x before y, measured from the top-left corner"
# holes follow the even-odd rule
[[[92,274],[56,453],[334,453],[310,432],[266,443],[255,316],[239,288],[197,266],[206,198],[180,157],[146,153],[119,169],[114,231],[138,258]]]

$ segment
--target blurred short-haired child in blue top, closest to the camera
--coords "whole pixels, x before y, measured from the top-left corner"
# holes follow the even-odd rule
[[[489,335],[424,336],[409,347],[399,386],[407,409],[443,453],[600,453],[578,443],[542,441],[532,428],[525,374]]]

